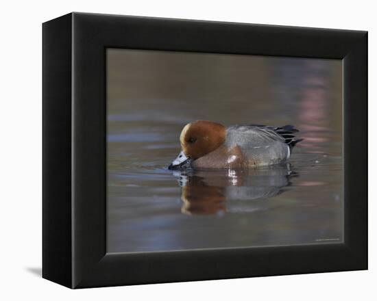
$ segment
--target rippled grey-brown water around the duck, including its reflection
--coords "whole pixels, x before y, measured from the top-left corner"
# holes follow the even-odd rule
[[[342,65],[108,51],[108,252],[343,241]],[[187,122],[295,125],[288,163],[167,170]]]

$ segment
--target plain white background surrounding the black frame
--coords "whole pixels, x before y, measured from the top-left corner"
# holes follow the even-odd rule
[[[1,4],[1,300],[376,300],[376,205],[369,151],[369,271],[70,290],[40,278],[42,27],[68,12],[369,31],[369,150],[376,126],[374,1],[3,1]],[[354,125],[357,127],[357,125]],[[347,133],[345,133],[347,134]],[[180,268],[180,267],[177,267]]]

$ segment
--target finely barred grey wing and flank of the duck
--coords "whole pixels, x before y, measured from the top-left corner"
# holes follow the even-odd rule
[[[290,150],[284,138],[268,127],[234,125],[228,127],[228,148],[239,146],[242,153],[256,161],[256,165],[270,165],[288,159]]]

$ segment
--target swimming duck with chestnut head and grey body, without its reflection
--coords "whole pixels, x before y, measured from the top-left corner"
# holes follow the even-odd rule
[[[186,168],[253,168],[284,163],[296,139],[293,125],[231,125],[196,120],[180,133],[181,150],[169,170]]]

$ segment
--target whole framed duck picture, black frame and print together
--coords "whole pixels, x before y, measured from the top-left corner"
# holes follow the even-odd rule
[[[44,278],[367,269],[367,32],[43,24]]]

